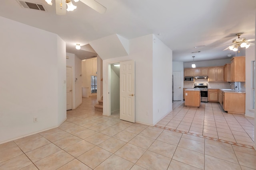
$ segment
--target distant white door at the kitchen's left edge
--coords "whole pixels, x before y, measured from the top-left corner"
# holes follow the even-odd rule
[[[181,72],[174,71],[173,74],[173,100],[181,100]]]

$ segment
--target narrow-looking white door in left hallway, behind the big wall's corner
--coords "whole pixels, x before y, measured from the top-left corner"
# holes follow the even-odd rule
[[[72,67],[66,67],[67,110],[72,109]]]

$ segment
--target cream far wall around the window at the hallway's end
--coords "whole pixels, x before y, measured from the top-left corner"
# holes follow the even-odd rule
[[[91,94],[91,76],[97,76],[97,58],[86,59],[86,61],[82,61],[82,87],[89,88],[89,96]],[[97,84],[100,82],[100,78],[97,76]],[[98,89],[97,89],[98,90]],[[93,94],[93,95],[96,95]]]

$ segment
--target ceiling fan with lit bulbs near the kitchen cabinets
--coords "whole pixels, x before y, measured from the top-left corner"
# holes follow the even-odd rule
[[[242,35],[242,33],[237,33],[236,36],[238,36],[238,38],[233,39],[232,43],[230,43],[230,44],[225,44],[225,45],[230,45],[230,46],[224,50],[230,49],[232,51],[238,51],[238,47],[242,47],[242,48],[245,47],[247,49],[248,47],[250,47],[251,41],[255,41],[255,39],[246,40],[246,38],[240,38],[241,35]],[[224,46],[224,45],[219,45],[216,47],[220,47],[220,46]]]

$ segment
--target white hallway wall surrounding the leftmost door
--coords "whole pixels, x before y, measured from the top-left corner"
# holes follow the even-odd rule
[[[82,103],[82,61],[72,53],[66,56],[66,66],[72,67],[72,109],[76,109]]]

